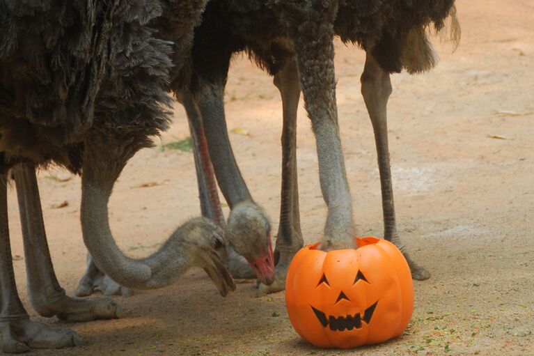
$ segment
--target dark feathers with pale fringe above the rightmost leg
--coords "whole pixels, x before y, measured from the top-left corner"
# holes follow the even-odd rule
[[[410,73],[430,70],[437,55],[427,38],[427,29],[446,31],[460,40],[460,24],[454,0],[345,0],[336,18],[336,34],[343,42],[353,42],[371,52],[388,72]]]

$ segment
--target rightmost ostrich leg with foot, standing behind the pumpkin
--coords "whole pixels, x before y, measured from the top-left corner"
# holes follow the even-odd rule
[[[430,273],[411,259],[397,232],[387,127],[387,104],[391,94],[391,80],[388,72],[380,68],[377,61],[369,53],[361,75],[361,93],[363,100],[366,102],[372,128],[375,131],[380,186],[382,187],[382,209],[384,210],[384,238],[393,242],[405,255],[406,261],[410,266],[411,277],[418,280],[427,279],[430,277]]]

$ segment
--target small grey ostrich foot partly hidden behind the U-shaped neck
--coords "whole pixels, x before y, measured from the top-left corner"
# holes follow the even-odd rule
[[[77,297],[87,297],[95,291],[101,291],[103,295],[132,295],[132,290],[121,286],[111,277],[102,272],[97,267],[90,253],[87,253],[87,268],[84,276],[81,277],[74,294]]]

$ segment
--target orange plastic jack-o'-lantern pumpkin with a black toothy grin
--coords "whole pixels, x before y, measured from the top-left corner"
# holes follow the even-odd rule
[[[404,256],[379,238],[356,238],[357,249],[293,258],[285,302],[293,327],[322,348],[354,348],[402,334],[414,310],[414,286]]]

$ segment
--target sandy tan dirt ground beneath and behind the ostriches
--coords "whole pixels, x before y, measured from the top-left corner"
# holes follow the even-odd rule
[[[292,330],[284,294],[255,297],[239,284],[220,297],[200,270],[156,291],[116,297],[120,320],[65,324],[29,306],[15,189],[9,192],[15,274],[31,316],[72,327],[87,346],[33,355],[534,355],[534,3],[458,1],[462,42],[439,44],[432,72],[393,76],[389,137],[399,229],[432,272],[414,284],[405,334],[359,350],[320,350]],[[338,110],[354,215],[361,235],[382,234],[372,128],[359,89],[363,52],[336,45]],[[228,127],[254,199],[277,229],[281,102],[272,79],[235,60],[226,95]],[[168,143],[189,136],[178,105]],[[299,109],[299,189],[306,242],[322,236],[315,140]],[[161,144],[161,142],[158,142]],[[151,148],[128,164],[111,199],[111,226],[132,256],[146,256],[180,222],[199,214],[193,156]],[[39,183],[56,273],[71,295],[85,268],[80,183],[59,169]],[[150,183],[150,184],[146,184]],[[139,187],[149,185],[150,187]],[[68,206],[58,208],[65,205]],[[62,204],[63,203],[63,204]],[[225,208],[228,212],[228,208]]]

